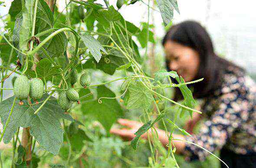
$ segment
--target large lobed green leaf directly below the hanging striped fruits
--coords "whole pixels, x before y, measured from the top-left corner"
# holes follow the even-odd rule
[[[43,95],[40,101],[45,100],[47,97],[47,94]],[[7,121],[13,99],[14,96],[0,103],[0,117],[3,125]],[[19,105],[17,100],[10,123],[3,136],[3,142],[9,143],[18,127],[30,127],[30,133],[35,137],[36,141],[47,151],[57,155],[63,142],[63,130],[59,120],[63,118],[72,121],[73,119],[68,114],[64,114],[64,110],[59,107],[56,98],[49,98],[39,113],[34,114],[34,111],[40,105],[42,103],[30,107],[27,101],[24,101],[24,105]]]

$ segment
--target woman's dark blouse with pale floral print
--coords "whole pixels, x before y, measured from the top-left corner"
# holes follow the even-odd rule
[[[213,96],[204,100],[202,112],[207,120],[200,132],[186,140],[210,152],[226,148],[237,154],[256,153],[256,84],[231,67],[222,83]],[[203,161],[209,153],[187,143],[184,155],[190,161]]]

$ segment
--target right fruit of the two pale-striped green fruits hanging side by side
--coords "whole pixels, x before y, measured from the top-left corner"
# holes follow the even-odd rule
[[[30,98],[36,100],[36,104],[43,97],[43,81],[39,78],[30,79]]]

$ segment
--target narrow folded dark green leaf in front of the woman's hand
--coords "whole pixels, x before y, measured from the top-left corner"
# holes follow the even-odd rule
[[[138,140],[141,137],[141,135],[143,135],[144,133],[146,133],[151,127],[154,126],[154,124],[160,120],[161,118],[165,117],[166,113],[162,113],[159,114],[158,117],[156,117],[154,119],[153,122],[151,122],[151,120],[149,120],[146,124],[144,124],[143,126],[141,126],[138,131],[135,133],[135,138],[131,140],[131,147],[135,150],[137,150],[137,146],[138,146]]]

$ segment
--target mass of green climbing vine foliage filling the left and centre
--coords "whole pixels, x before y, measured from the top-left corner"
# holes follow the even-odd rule
[[[117,0],[116,3],[120,9],[124,4],[136,2],[138,0]],[[14,137],[9,153],[14,154],[14,162],[10,161],[8,166],[26,168],[30,163],[33,168],[46,164],[51,167],[174,167],[176,161],[167,157],[167,151],[154,134],[151,151],[146,140],[141,140],[137,153],[133,151],[138,148],[141,135],[166,117],[171,100],[164,89],[181,89],[182,105],[187,106],[180,108],[181,111],[195,105],[190,89],[176,72],[161,70],[154,73],[154,79],[144,72],[148,70],[143,62],[147,57],[141,57],[139,49],[150,51],[148,42],[157,42],[151,31],[154,25],[141,22],[140,28],[135,26],[107,1],[99,4],[93,0],[70,0],[66,5],[64,12],[57,6],[52,12],[44,0],[14,0],[10,16],[4,20],[5,29],[8,29],[4,37],[15,48],[1,38],[4,44],[0,44],[1,81],[8,81],[8,75],[17,73],[19,76],[14,83],[21,86],[14,84],[13,92],[16,97],[25,99],[23,105],[16,99],[13,103],[14,96],[0,102],[3,141],[10,143]],[[164,23],[171,25],[173,10],[179,12],[177,1],[158,0],[158,6]],[[18,69],[19,64],[13,70],[13,64],[18,63],[21,69]],[[77,83],[78,76],[81,76],[79,82],[83,87]],[[169,80],[165,84],[167,80],[164,79],[169,77],[179,84]],[[20,78],[26,78],[26,85]],[[121,79],[125,80],[122,84]],[[22,96],[16,94],[17,89]],[[1,90],[1,99],[4,90]],[[58,102],[54,98],[56,93],[59,94]],[[155,117],[155,114],[159,115]],[[137,120],[144,117],[145,124],[131,141],[132,148],[110,135],[110,129],[117,127],[117,119],[126,116]],[[66,120],[60,124],[60,119]],[[169,119],[167,122],[189,136],[177,123]],[[16,142],[21,140],[17,138],[21,134],[20,127],[30,130],[28,144],[37,142],[32,146],[31,161],[24,159],[29,152],[26,148],[16,147]],[[160,155],[155,155],[155,150]]]

